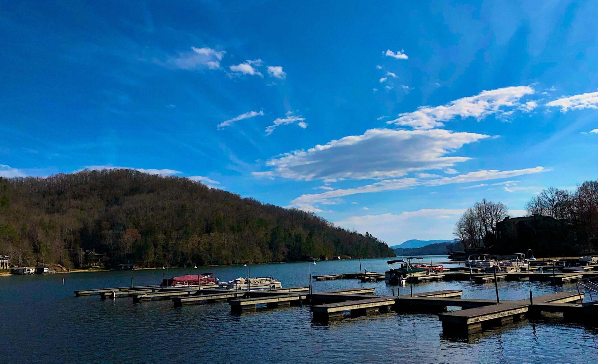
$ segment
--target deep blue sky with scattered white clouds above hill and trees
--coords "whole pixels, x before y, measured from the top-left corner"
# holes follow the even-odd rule
[[[598,177],[598,7],[3,2],[0,175],[127,167],[451,238]]]

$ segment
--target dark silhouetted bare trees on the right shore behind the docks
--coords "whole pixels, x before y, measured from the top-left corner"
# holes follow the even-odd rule
[[[511,219],[504,204],[483,199],[463,213],[454,236],[468,250],[496,253],[531,248],[541,256],[568,256],[598,251],[598,180],[573,191],[545,189],[525,210],[525,217]]]

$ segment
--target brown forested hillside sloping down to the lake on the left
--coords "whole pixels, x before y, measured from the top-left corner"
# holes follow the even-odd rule
[[[182,266],[393,256],[385,242],[300,210],[130,169],[0,178],[0,254],[13,264]]]

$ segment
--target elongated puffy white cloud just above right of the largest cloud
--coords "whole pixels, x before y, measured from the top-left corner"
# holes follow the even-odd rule
[[[482,91],[478,95],[460,98],[446,105],[423,106],[410,113],[399,114],[387,123],[410,126],[414,129],[432,129],[444,126],[455,117],[475,117],[478,120],[503,111],[504,108],[520,108],[520,99],[534,93],[529,86],[512,86],[502,89]]]

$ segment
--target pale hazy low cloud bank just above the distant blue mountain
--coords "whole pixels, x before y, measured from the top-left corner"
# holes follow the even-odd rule
[[[425,208],[398,214],[352,216],[334,225],[361,233],[368,231],[389,245],[397,245],[408,239],[452,239],[454,223],[463,212],[464,209]]]

